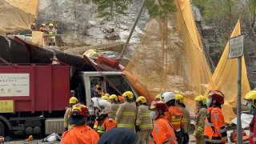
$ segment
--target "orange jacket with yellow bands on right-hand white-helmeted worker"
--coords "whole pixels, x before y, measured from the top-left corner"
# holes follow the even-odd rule
[[[182,109],[178,106],[170,106],[168,111],[165,112],[165,118],[171,123],[176,131],[179,131],[181,127],[184,127],[182,121]]]

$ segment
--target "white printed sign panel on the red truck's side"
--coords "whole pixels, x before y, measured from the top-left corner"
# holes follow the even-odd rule
[[[0,74],[2,96],[30,96],[30,74]]]

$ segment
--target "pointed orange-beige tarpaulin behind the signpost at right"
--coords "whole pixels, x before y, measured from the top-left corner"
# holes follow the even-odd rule
[[[233,33],[230,38],[236,37],[241,34],[240,20],[234,27]],[[225,116],[225,121],[230,122],[236,115],[233,113],[231,106],[237,105],[237,92],[238,92],[238,58],[228,59],[229,54],[229,42],[226,44],[226,48],[223,51],[222,58],[218,62],[218,66],[214,71],[214,75],[210,80],[209,90],[221,90],[225,95],[226,105],[222,106],[222,111]],[[250,85],[247,78],[246,62],[242,57],[242,98],[250,91]],[[206,96],[207,94],[205,94]],[[229,105],[230,104],[230,105]],[[231,122],[230,122],[231,123]]]

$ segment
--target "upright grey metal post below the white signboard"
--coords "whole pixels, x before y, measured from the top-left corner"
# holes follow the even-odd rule
[[[242,144],[242,123],[241,123],[241,74],[242,57],[238,58],[238,109],[237,109],[237,143]]]

